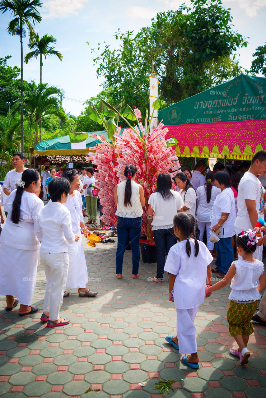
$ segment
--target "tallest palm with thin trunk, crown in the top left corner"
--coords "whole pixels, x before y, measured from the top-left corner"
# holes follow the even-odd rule
[[[21,83],[23,84],[23,46],[22,39],[26,32],[23,26],[29,29],[29,40],[32,41],[35,36],[33,25],[35,22],[41,22],[41,16],[38,7],[42,7],[43,3],[39,0],[1,0],[0,11],[4,14],[6,11],[11,11],[11,16],[14,14],[14,19],[8,24],[8,34],[11,36],[20,36],[20,60],[21,60]],[[33,25],[32,25],[33,23]],[[20,92],[22,99],[23,93]],[[20,109],[20,135],[21,135],[21,151],[24,153],[24,138],[23,138],[23,108]]]

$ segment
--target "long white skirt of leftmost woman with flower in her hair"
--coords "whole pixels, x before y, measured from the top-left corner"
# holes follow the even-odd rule
[[[30,305],[36,285],[38,250],[21,250],[4,244],[0,249],[0,295],[18,297],[20,304]]]

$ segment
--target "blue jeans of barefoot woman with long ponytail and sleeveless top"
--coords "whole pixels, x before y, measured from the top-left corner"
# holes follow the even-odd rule
[[[122,273],[123,258],[125,253],[125,247],[127,246],[128,234],[132,250],[132,273],[134,275],[137,275],[137,273],[139,272],[139,259],[140,259],[139,239],[141,235],[141,217],[137,217],[134,219],[118,217],[115,273]]]

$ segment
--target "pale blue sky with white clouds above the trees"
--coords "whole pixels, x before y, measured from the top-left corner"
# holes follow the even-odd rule
[[[90,47],[98,47],[104,41],[111,47],[117,46],[113,33],[121,31],[138,31],[149,25],[156,12],[176,10],[184,0],[43,0],[40,24],[36,31],[42,36],[45,33],[57,39],[56,49],[63,54],[60,62],[57,58],[43,61],[43,82],[59,86],[67,98],[63,101],[67,112],[79,115],[84,106],[82,102],[100,92],[102,80],[96,77],[96,66],[93,66]],[[190,1],[186,2],[190,4]],[[266,0],[223,0],[226,8],[231,8],[234,30],[244,37],[250,37],[248,47],[239,50],[240,64],[250,68],[252,53],[259,45],[264,45],[266,37]],[[12,55],[9,64],[20,66],[20,40],[8,36],[5,31],[10,21],[10,13],[0,15],[0,57]],[[23,54],[28,52],[27,37],[24,39]],[[25,80],[39,82],[39,60],[24,64]],[[77,100],[77,101],[76,101]]]

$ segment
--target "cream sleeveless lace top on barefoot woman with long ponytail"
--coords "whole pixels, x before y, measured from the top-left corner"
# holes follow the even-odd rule
[[[141,201],[139,197],[139,184],[135,183],[135,181],[131,181],[131,205],[124,206],[125,199],[125,183],[127,180],[118,184],[117,187],[117,211],[115,213],[118,217],[124,217],[129,219],[135,219],[137,217],[141,217],[143,215],[143,209],[141,206]]]

